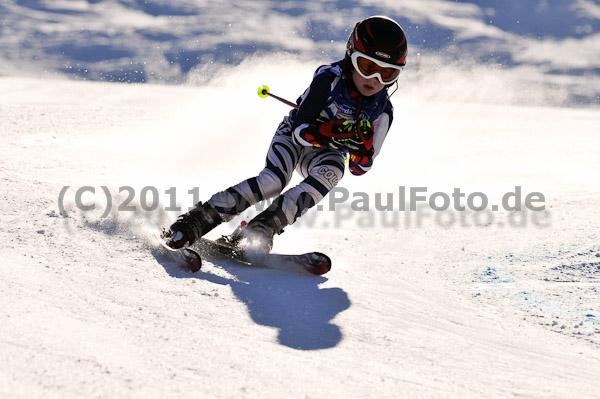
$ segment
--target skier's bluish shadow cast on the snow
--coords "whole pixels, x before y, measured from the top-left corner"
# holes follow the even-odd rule
[[[340,288],[321,288],[327,281],[325,277],[253,268],[227,260],[205,263],[227,271],[232,278],[203,270],[192,274],[173,265],[160,251],[154,256],[173,277],[198,278],[231,286],[233,293],[248,307],[254,322],[279,330],[281,345],[317,350],[333,348],[342,341],[340,327],[332,320],[350,307],[350,300]]]

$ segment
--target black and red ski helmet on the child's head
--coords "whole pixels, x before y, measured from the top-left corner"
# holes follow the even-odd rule
[[[408,45],[402,27],[393,19],[374,16],[358,22],[346,45],[346,56],[359,51],[388,64],[404,66]]]

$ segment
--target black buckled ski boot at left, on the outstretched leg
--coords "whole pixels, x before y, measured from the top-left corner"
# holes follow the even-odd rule
[[[223,219],[211,204],[198,202],[194,209],[180,215],[171,225],[167,245],[175,249],[192,245],[222,222]]]

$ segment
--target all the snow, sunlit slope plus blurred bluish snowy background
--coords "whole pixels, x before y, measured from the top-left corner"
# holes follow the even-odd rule
[[[332,271],[181,270],[157,225],[261,170],[289,109],[258,86],[294,100],[375,14],[410,46],[384,148],[275,242]],[[590,0],[2,1],[0,397],[598,397],[599,21]],[[413,188],[438,202],[403,210]]]

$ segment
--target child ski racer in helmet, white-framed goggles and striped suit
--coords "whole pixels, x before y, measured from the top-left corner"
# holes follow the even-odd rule
[[[343,60],[319,67],[310,87],[280,123],[265,168],[177,219],[167,242],[191,245],[217,225],[257,202],[278,196],[232,235],[234,245],[270,251],[275,234],[321,201],[342,179],[346,157],[353,175],[363,175],[379,154],[392,123],[387,89],[406,62],[407,42],[394,20],[375,16],[358,22]],[[294,170],[304,180],[281,194]]]

